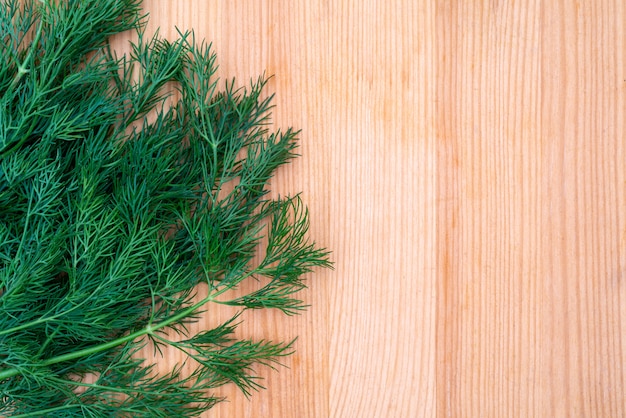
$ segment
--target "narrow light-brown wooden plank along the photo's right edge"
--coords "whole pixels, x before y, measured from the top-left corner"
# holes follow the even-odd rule
[[[623,4],[545,2],[541,18],[542,404],[623,416]]]

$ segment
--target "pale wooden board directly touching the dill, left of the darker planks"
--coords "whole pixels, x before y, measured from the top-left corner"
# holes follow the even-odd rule
[[[276,126],[302,128],[277,192],[303,191],[336,269],[311,277],[299,318],[254,312],[242,335],[300,336],[267,391],[233,388],[211,417],[422,416],[435,399],[432,16],[427,3],[146,1],[166,37],[194,28],[220,75],[275,74]],[[389,30],[373,30],[376,27]],[[408,35],[408,36],[407,36]],[[398,181],[398,179],[402,179]],[[227,318],[211,313],[200,327]],[[170,364],[181,361],[169,354]],[[389,390],[381,391],[381,387]],[[403,388],[411,388],[404,390]],[[372,396],[379,393],[380,396]]]

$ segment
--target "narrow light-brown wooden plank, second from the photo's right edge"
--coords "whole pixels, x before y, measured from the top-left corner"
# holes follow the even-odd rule
[[[438,6],[437,415],[538,416],[539,2]]]

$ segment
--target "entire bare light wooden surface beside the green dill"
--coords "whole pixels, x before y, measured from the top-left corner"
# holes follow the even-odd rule
[[[297,354],[207,416],[626,416],[624,2],[145,8],[276,75],[303,156],[273,188],[336,262],[304,315],[246,318]]]

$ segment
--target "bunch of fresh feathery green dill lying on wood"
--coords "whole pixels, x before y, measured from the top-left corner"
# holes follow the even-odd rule
[[[267,79],[218,88],[208,45],[145,23],[139,0],[2,0],[2,416],[182,417],[223,384],[248,395],[292,343],[235,338],[239,315],[188,324],[220,305],[297,313],[303,275],[330,266],[299,196],[269,197],[297,133],[269,130]],[[192,372],[155,374],[149,343]]]

